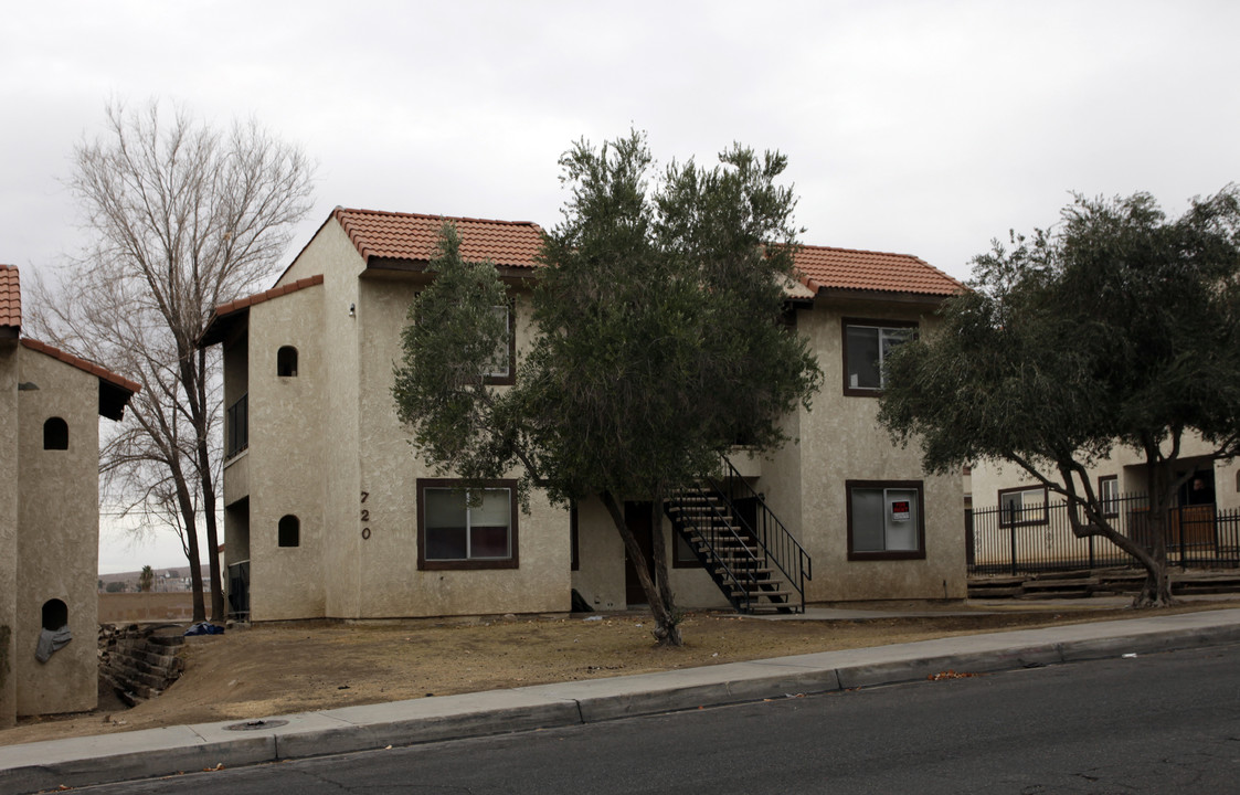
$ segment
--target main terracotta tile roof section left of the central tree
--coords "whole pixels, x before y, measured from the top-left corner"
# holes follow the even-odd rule
[[[537,268],[542,229],[529,221],[486,221],[337,207],[332,217],[367,262],[429,262],[438,253],[439,232],[450,221],[461,236],[461,257],[508,268]]]

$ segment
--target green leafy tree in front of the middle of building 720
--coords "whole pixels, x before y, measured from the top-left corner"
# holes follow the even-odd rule
[[[792,192],[776,185],[786,160],[739,145],[719,160],[673,162],[652,185],[641,134],[563,155],[572,198],[543,238],[533,342],[512,387],[480,376],[505,339],[492,308],[510,299],[494,267],[461,262],[446,227],[393,388],[422,454],[444,470],[516,469],[526,492],[558,504],[598,496],[668,645],[681,637],[662,536],[651,572],[624,502],[651,502],[658,527],[663,497],[738,440],[782,444],[780,418],[821,381],[781,324],[797,234]]]

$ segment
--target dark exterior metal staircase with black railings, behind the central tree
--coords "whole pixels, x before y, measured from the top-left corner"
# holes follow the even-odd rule
[[[810,556],[725,456],[720,473],[673,494],[663,512],[737,611],[804,613]]]

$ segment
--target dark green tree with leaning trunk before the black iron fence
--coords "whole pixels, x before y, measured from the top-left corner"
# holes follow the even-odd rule
[[[1078,196],[1061,221],[973,260],[972,290],[889,362],[880,420],[928,469],[1012,461],[1063,495],[1073,531],[1109,538],[1167,604],[1168,511],[1187,437],[1240,453],[1240,191],[1168,220],[1153,197]],[[1122,535],[1087,468],[1115,446],[1145,459],[1149,544]]]

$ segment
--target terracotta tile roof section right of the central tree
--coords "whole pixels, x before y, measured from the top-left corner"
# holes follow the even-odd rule
[[[874,290],[918,295],[955,295],[965,285],[911,254],[802,246],[794,259],[805,285],[818,291]]]

